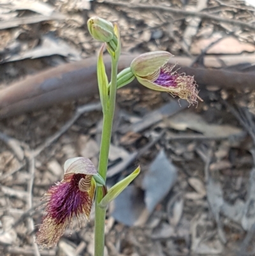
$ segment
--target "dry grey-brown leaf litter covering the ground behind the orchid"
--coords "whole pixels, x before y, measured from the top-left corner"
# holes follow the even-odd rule
[[[151,3],[162,4],[156,0],[147,4]],[[172,8],[181,6],[183,10],[201,10],[204,4],[201,12],[211,8],[212,14],[243,19],[247,24],[254,17],[252,7],[240,1],[169,4]],[[84,17],[102,14],[106,19],[118,20],[120,31],[125,31],[122,47],[126,51],[169,50],[179,63],[233,70],[239,65],[238,68],[252,72],[254,31],[222,21],[199,15],[191,19],[189,15],[159,13],[156,8],[153,11],[128,6],[114,8],[107,1],[104,4],[68,0],[1,1],[1,88],[25,75],[77,61],[80,56],[94,56],[99,45],[89,38]],[[160,33],[156,36],[157,31]],[[215,33],[220,33],[221,40],[212,44]],[[233,45],[226,47],[230,42]],[[178,102],[168,94],[138,87],[118,92],[122,117],[120,114],[117,117],[119,129],[112,140],[109,182],[114,184],[138,164],[142,174],[109,207],[107,255],[254,252],[255,184],[250,153],[253,146],[247,131],[240,128],[242,124],[218,100],[223,93],[220,89],[203,90],[204,103],[197,109],[185,110],[188,107],[185,102]],[[81,114],[71,128],[64,130],[64,135],[59,133],[58,140],[47,140],[75,115],[77,106],[93,100],[62,103],[1,121],[1,132],[15,142],[10,144],[4,137],[0,142],[0,252],[3,255],[36,252],[29,220],[33,218],[36,230],[43,214],[41,209],[35,210],[38,200],[48,186],[61,178],[66,157],[88,153],[94,160],[98,157],[96,127],[101,117],[98,109]],[[254,112],[253,91],[227,91],[226,100]],[[245,120],[249,119],[241,114]],[[253,116],[251,121],[254,123]],[[81,142],[80,138],[83,138]],[[28,192],[31,172],[27,152],[40,146],[41,153],[34,165],[34,188]],[[210,161],[208,148],[212,149]],[[29,197],[33,201],[31,209]],[[93,225],[93,215],[81,230],[75,221],[71,236],[65,234],[58,248],[41,250],[40,255],[92,255]]]

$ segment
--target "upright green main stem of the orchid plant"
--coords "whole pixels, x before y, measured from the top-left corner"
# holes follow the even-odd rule
[[[99,174],[106,179],[108,166],[108,155],[112,137],[112,123],[115,109],[115,99],[117,91],[117,61],[112,57],[112,77],[110,86],[110,97],[108,108],[103,116],[103,130],[99,155],[98,170]],[[96,191],[96,216],[95,216],[95,253],[94,256],[103,256],[105,248],[105,215],[106,209],[99,207],[99,202],[103,199],[103,191],[98,188]]]

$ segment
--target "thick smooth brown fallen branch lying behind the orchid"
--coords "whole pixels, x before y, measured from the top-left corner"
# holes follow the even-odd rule
[[[127,68],[138,54],[122,55],[119,70]],[[245,59],[244,59],[245,61]],[[174,57],[170,63],[187,65],[190,58]],[[105,57],[106,72],[110,72],[110,58]],[[205,68],[182,67],[180,72],[194,75],[200,88],[219,86],[224,88],[254,88],[255,73],[230,72]],[[133,86],[137,82],[133,82]],[[96,57],[75,63],[62,64],[36,75],[26,77],[0,90],[0,119],[16,114],[43,109],[55,103],[77,100],[98,93],[96,78]]]

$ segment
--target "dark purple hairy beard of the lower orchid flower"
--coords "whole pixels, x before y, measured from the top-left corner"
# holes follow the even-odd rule
[[[38,230],[36,243],[42,246],[55,246],[59,238],[72,222],[73,217],[80,220],[89,219],[94,187],[87,191],[79,189],[85,174],[68,174],[63,181],[52,186],[42,200],[47,200],[43,223]],[[91,178],[91,176],[89,176]]]

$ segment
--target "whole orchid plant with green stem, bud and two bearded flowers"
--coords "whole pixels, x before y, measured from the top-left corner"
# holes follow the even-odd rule
[[[98,86],[103,109],[103,130],[99,154],[98,170],[91,160],[77,157],[64,164],[64,178],[52,186],[43,197],[45,215],[38,230],[36,243],[42,246],[55,246],[62,234],[72,223],[74,217],[89,220],[93,200],[95,201],[95,256],[103,256],[105,247],[106,207],[121,193],[140,173],[140,167],[125,179],[107,191],[106,171],[112,135],[113,114],[116,91],[126,86],[135,78],[143,86],[156,91],[166,91],[173,96],[187,100],[190,105],[198,103],[197,84],[194,78],[173,71],[168,65],[172,55],[169,52],[157,51],[136,57],[131,66],[117,74],[120,57],[120,34],[117,24],[112,24],[99,17],[92,17],[87,22],[89,32],[96,40],[103,42],[98,54]],[[103,52],[108,51],[112,59],[111,81],[105,72]],[[96,193],[96,199],[94,194]]]

